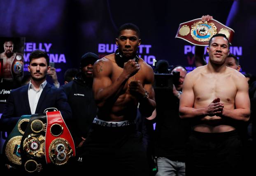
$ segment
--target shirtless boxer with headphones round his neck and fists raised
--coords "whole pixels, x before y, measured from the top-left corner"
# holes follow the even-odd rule
[[[156,103],[153,69],[137,56],[140,43],[137,26],[124,24],[116,38],[119,49],[93,65],[93,92],[99,111],[80,159],[95,175],[148,175],[142,136],[134,120],[138,103],[146,118]]]

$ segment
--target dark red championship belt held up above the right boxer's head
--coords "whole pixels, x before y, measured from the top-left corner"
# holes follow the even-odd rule
[[[231,44],[235,31],[214,19],[205,22],[194,19],[179,24],[175,38],[198,46],[208,46],[210,38],[217,33],[225,34]]]

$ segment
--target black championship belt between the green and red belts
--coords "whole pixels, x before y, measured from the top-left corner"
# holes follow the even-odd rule
[[[40,172],[45,167],[46,115],[31,115],[26,132],[21,139],[22,167],[28,172]]]

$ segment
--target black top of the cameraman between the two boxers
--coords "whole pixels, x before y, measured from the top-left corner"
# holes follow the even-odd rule
[[[191,125],[187,119],[179,117],[179,99],[172,94],[172,90],[155,90],[155,94],[156,156],[184,161]]]

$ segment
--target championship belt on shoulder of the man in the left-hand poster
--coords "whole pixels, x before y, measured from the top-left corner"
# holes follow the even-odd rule
[[[14,59],[12,61],[12,66],[11,66],[12,78],[14,80],[20,79],[21,81],[23,77],[23,67],[24,67],[24,58],[22,54],[14,53]]]

